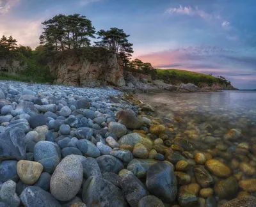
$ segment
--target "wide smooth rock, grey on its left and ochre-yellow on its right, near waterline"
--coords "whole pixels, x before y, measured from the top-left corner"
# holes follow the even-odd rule
[[[137,143],[143,144],[147,149],[152,148],[153,145],[153,142],[148,137],[142,137],[138,133],[126,134],[118,140],[119,145],[130,145],[132,148]]]

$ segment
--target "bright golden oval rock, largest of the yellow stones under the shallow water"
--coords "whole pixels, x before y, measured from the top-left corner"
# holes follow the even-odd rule
[[[207,167],[207,169],[212,174],[221,178],[227,178],[231,174],[230,168],[220,160],[216,160],[216,159],[207,160],[207,162],[205,163],[205,167]]]

